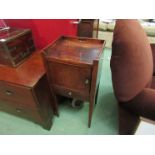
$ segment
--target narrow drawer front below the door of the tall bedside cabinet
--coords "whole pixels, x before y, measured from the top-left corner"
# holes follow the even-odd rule
[[[89,100],[89,93],[82,93],[79,91],[70,90],[70,89],[63,88],[63,87],[56,86],[56,85],[53,85],[53,88],[54,88],[54,91],[56,92],[56,94],[70,97],[70,98],[81,99],[81,100],[85,100],[85,101]]]

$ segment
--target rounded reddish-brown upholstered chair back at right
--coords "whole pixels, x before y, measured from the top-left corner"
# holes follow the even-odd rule
[[[146,33],[137,20],[116,21],[111,71],[114,93],[119,102],[130,101],[150,85],[153,74],[152,51]],[[145,90],[142,94],[150,91]],[[155,97],[153,99],[155,101]]]

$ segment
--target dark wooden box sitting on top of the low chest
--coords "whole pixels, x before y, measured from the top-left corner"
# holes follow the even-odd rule
[[[16,67],[35,50],[29,29],[0,30],[0,64]]]

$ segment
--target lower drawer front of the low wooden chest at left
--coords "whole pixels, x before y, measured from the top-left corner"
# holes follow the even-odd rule
[[[19,117],[23,117],[29,120],[32,120],[36,123],[41,123],[42,119],[40,117],[40,114],[37,110],[32,110],[29,108],[25,108],[21,105],[18,105],[16,103],[8,102],[0,100],[0,111],[4,111],[13,115],[17,115]]]

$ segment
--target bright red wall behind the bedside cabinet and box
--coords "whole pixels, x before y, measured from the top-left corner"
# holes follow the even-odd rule
[[[77,34],[77,25],[71,24],[71,19],[5,19],[5,22],[10,27],[30,28],[38,49],[61,35]]]

